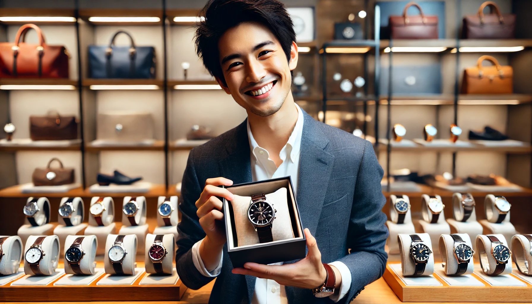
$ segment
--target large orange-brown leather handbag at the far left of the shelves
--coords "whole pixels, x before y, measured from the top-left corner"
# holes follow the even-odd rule
[[[29,29],[37,31],[39,44],[24,42]],[[24,24],[14,43],[0,43],[0,77],[68,78],[68,57],[64,46],[45,43],[38,26]]]

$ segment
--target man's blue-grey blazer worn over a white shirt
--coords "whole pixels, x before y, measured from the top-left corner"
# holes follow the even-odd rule
[[[304,112],[299,170],[297,204],[303,227],[315,236],[322,262],[342,261],[351,270],[350,291],[338,303],[351,302],[365,285],[382,276],[386,267],[388,229],[381,211],[386,199],[380,187],[383,169],[370,142]],[[205,180],[220,176],[234,184],[252,182],[246,121],[195,147],[188,156],[179,204],[176,266],[182,282],[191,289],[213,279],[198,272],[190,249],[205,237],[195,202]],[[293,262],[296,260],[285,261]],[[256,278],[232,274],[232,268],[226,244],[209,303],[251,303]],[[286,286],[286,297],[289,303],[332,303],[329,298],[315,298],[309,289],[292,286]]]

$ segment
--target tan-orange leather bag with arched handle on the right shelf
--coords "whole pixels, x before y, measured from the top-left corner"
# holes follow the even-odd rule
[[[482,62],[489,60],[494,65],[483,67]],[[500,65],[488,55],[481,56],[476,67],[465,68],[462,80],[463,94],[512,94],[513,69],[510,65]]]

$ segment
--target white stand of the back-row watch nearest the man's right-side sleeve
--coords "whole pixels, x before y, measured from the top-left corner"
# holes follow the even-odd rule
[[[403,195],[403,199],[409,203],[410,206],[410,199],[407,195]],[[388,245],[388,253],[389,254],[400,254],[401,251],[399,249],[399,243],[397,242],[397,235],[400,233],[403,234],[414,234],[415,228],[414,224],[412,223],[412,212],[410,212],[410,208],[408,211],[406,211],[404,215],[403,224],[397,224],[398,216],[397,210],[395,209],[395,200],[397,200],[397,196],[394,194],[390,195],[390,219],[386,221],[386,226],[388,226],[389,236],[386,240],[386,244]],[[398,260],[398,259],[397,259]]]

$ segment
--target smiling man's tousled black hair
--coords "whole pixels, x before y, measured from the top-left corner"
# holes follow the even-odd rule
[[[198,17],[205,19],[196,26],[196,53],[211,75],[218,77],[223,84],[226,81],[220,65],[218,41],[228,29],[242,22],[255,21],[268,27],[290,61],[290,49],[296,34],[292,18],[278,0],[209,0]]]

